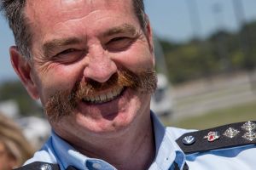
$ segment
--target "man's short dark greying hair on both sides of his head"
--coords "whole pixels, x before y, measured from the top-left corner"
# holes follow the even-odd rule
[[[148,18],[145,14],[143,0],[132,0],[132,2],[140,26],[145,31]],[[32,31],[24,13],[25,6],[26,0],[2,0],[0,8],[14,33],[15,43],[20,54],[25,59],[32,59]]]

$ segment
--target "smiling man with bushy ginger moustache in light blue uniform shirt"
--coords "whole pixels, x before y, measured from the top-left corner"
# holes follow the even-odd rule
[[[236,145],[215,131],[183,135],[150,113],[154,47],[142,0],[2,2],[17,45],[10,48],[12,65],[32,98],[41,99],[53,129],[20,169],[255,167],[253,140],[218,150]],[[234,132],[227,136],[236,139]]]

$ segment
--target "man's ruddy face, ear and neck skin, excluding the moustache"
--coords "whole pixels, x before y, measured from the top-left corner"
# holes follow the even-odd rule
[[[25,12],[32,27],[33,59],[26,61],[15,47],[10,54],[32,98],[41,99],[47,109],[58,92],[72,96],[77,82],[105,87],[82,94],[59,120],[50,121],[49,116],[55,133],[85,156],[118,169],[148,168],[154,160],[149,109],[154,90],[104,85],[119,71],[154,72],[152,31],[149,23],[142,30],[132,1],[28,0]]]

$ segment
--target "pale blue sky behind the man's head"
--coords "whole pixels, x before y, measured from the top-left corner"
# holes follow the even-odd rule
[[[186,42],[195,36],[205,38],[219,29],[238,31],[234,1],[242,3],[245,21],[256,20],[255,0],[144,0],[154,34],[172,42]],[[189,8],[191,5],[195,8]],[[191,10],[197,13],[191,14]],[[12,32],[1,15],[0,83],[17,78],[9,61],[9,46],[14,43]]]

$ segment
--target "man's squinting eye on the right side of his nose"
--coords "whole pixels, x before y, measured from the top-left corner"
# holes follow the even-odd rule
[[[106,48],[108,51],[123,51],[129,48],[134,41],[131,37],[114,37],[107,42]]]

